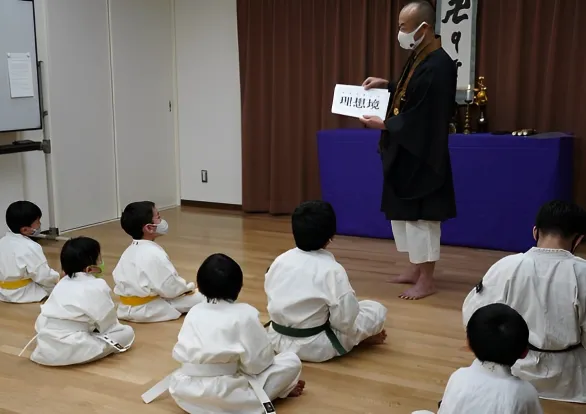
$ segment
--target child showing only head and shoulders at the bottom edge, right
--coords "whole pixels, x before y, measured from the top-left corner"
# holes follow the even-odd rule
[[[543,414],[537,390],[511,373],[529,352],[523,317],[502,303],[488,305],[472,315],[466,333],[476,360],[452,374],[438,414]]]

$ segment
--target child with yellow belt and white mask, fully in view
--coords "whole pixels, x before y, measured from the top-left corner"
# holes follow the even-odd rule
[[[120,224],[133,239],[113,273],[114,293],[120,296],[120,319],[169,321],[178,319],[203,301],[195,284],[187,283],[177,274],[165,250],[155,242],[169,230],[155,203],[129,204],[122,213]]]

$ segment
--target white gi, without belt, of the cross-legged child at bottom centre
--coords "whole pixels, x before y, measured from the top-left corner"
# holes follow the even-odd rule
[[[182,364],[237,363],[235,375],[195,377],[171,375],[169,392],[191,414],[260,414],[261,403],[248,378],[271,400],[285,398],[301,375],[294,353],[275,356],[258,311],[245,303],[200,303],[183,322],[173,358]]]

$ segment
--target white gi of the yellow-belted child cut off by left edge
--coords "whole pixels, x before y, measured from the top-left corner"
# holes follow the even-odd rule
[[[7,232],[0,239],[0,281],[30,279],[17,289],[2,289],[0,301],[12,303],[40,302],[59,282],[59,273],[47,263],[43,248],[21,234]]]

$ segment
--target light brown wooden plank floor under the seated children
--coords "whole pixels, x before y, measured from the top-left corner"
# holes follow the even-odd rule
[[[240,300],[257,307],[266,319],[264,272],[292,247],[288,218],[242,216],[194,208],[164,212],[170,234],[160,239],[180,274],[195,280],[199,263],[216,252],[237,260],[245,272]],[[77,233],[102,245],[111,272],[129,239],[119,223]],[[50,264],[59,269],[60,243],[44,243]],[[391,241],[338,237],[331,251],[346,267],[361,298],[389,309],[388,343],[360,349],[324,364],[305,364],[306,392],[279,402],[280,414],[393,413],[437,407],[446,381],[472,355],[464,347],[461,305],[488,267],[505,253],[446,247],[437,267],[441,292],[420,302],[397,298],[401,286],[385,283],[405,268]],[[112,286],[112,277],[106,280]],[[182,320],[133,324],[136,341],[122,355],[74,368],[45,368],[18,358],[34,335],[39,305],[0,303],[0,413],[181,413],[169,396],[145,405],[142,392],[173,371],[171,358]],[[30,352],[27,353],[30,355]],[[584,413],[585,407],[544,401],[548,414]]]

